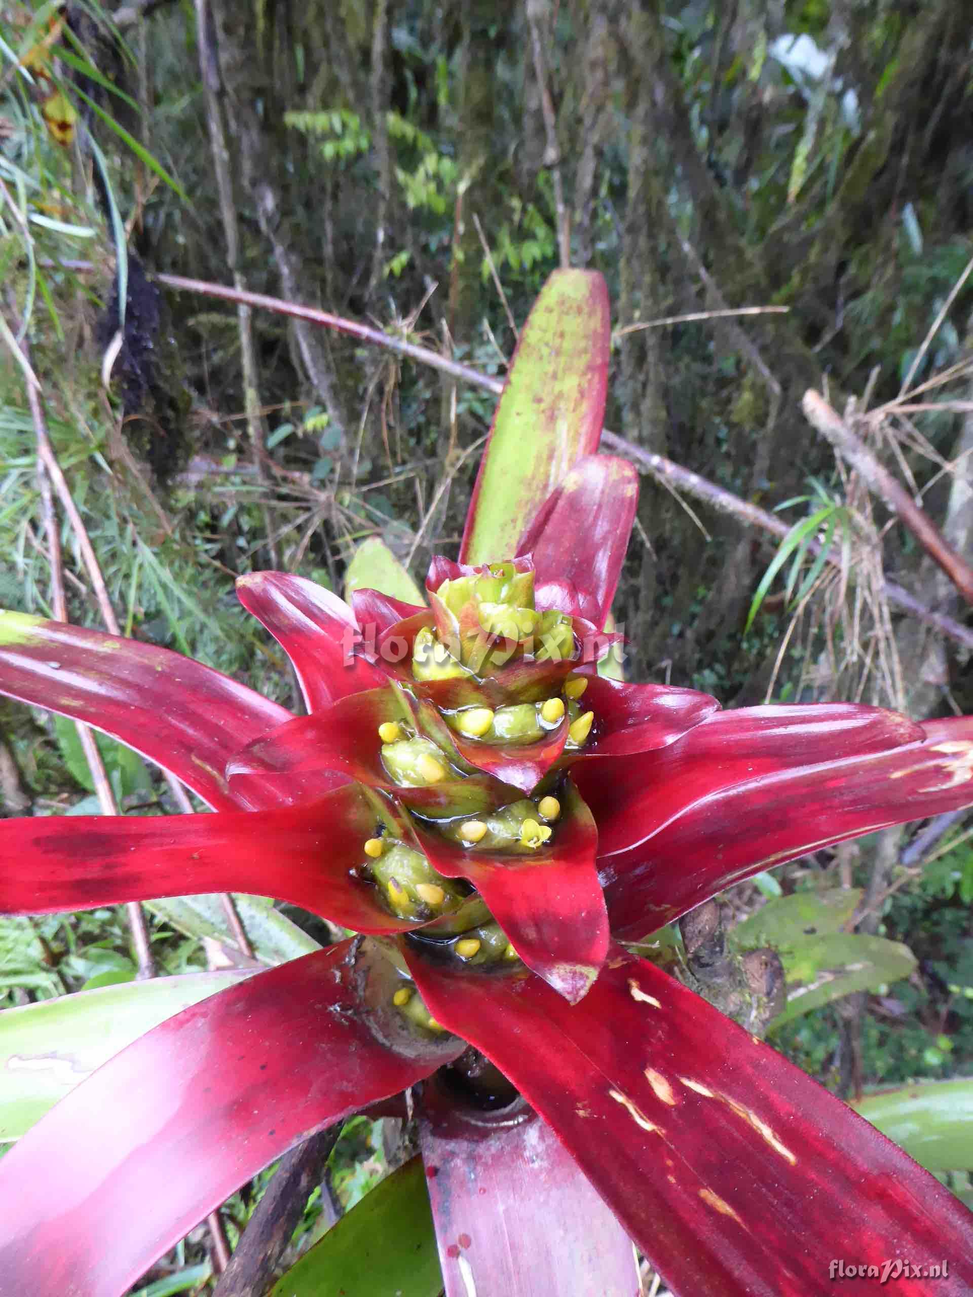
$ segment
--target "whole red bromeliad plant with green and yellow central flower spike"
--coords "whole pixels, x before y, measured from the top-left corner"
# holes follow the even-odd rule
[[[287,1148],[410,1087],[449,1294],[629,1293],[629,1239],[682,1294],[830,1292],[835,1257],[946,1258],[896,1291],[970,1289],[967,1209],[624,943],[968,805],[973,719],[721,712],[598,673],[637,493],[595,453],[607,349],[602,280],[554,275],[428,607],[240,580],[306,716],[162,648],[0,617],[0,690],[215,812],[5,821],[0,912],[231,890],[362,934],[161,1023],[34,1126],[0,1162],[1,1293],[122,1293]]]

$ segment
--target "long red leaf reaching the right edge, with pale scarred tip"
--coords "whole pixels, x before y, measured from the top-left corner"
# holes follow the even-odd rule
[[[686,746],[708,725],[691,730]],[[835,742],[835,759],[817,765],[808,761],[823,755],[821,744],[795,741],[791,755],[778,751],[767,761],[741,765],[733,757],[717,765],[710,755],[698,768],[676,763],[627,798],[618,781],[614,794],[602,786],[593,809],[595,818],[598,807],[605,813],[598,865],[612,931],[636,939],[763,869],[973,804],[973,719],[929,721],[924,729],[922,742],[876,751],[865,724],[859,755],[851,741],[851,754],[838,756],[847,747]],[[585,776],[586,769],[577,778],[588,791]],[[673,798],[673,782],[681,796]]]

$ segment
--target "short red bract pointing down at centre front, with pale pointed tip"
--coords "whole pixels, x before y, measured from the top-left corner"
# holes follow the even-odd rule
[[[467,878],[520,958],[572,1004],[598,975],[608,948],[608,917],[594,869],[598,833],[568,785],[550,843],[529,855],[464,848],[416,822],[433,869]]]

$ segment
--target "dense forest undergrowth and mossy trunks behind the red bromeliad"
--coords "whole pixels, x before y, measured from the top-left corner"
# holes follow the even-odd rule
[[[161,292],[153,272],[319,305],[502,375],[516,324],[567,256],[608,280],[610,427],[743,499],[789,502],[782,516],[800,524],[760,585],[768,545],[645,479],[615,610],[632,673],[728,706],[771,691],[919,717],[973,711],[963,650],[893,615],[881,585],[894,576],[961,616],[955,591],[799,405],[826,385],[835,407],[876,409],[930,383],[912,399],[924,409],[869,424],[872,445],[969,553],[961,5],[6,0],[0,38],[4,329],[30,341],[126,633],[297,706],[232,577],[283,567],[340,591],[365,537],[416,575],[433,550],[453,553],[493,407],[339,335]],[[787,311],[658,323],[742,306]],[[5,345],[4,604],[51,612],[43,536],[25,372]],[[813,564],[802,542],[815,537],[842,550],[843,573]],[[64,543],[71,616],[99,624],[67,527]],[[91,809],[70,728],[0,704],[0,813]],[[171,809],[140,761],[105,756],[126,808]],[[886,835],[728,898],[732,922],[775,887],[856,885],[846,926],[913,952],[894,986],[873,979],[868,999],[776,1034],[843,1093],[970,1067],[963,831],[928,864]],[[267,958],[300,948],[305,920],[289,918],[266,936]],[[152,923],[163,971],[211,962],[218,916],[160,909]],[[0,1006],[134,975],[114,912],[0,926]],[[371,1123],[342,1137],[339,1208],[387,1152]],[[228,1209],[232,1228],[252,1197]],[[310,1209],[305,1232],[314,1220]],[[174,1266],[196,1283],[193,1246]]]

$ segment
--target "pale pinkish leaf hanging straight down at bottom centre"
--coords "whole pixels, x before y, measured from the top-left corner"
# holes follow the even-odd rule
[[[628,1235],[523,1101],[501,1113],[459,1109],[431,1080],[419,1144],[446,1297],[638,1292]]]

